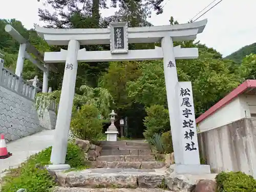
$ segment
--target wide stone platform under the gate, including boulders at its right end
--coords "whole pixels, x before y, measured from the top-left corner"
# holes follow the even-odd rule
[[[177,175],[165,169],[93,168],[57,172],[55,192],[214,192],[217,174]],[[207,189],[207,190],[204,190]]]

